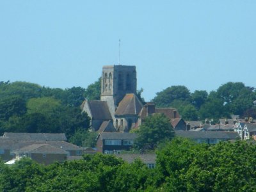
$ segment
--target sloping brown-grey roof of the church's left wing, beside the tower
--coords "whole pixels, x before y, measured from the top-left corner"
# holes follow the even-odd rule
[[[92,113],[92,118],[95,120],[111,120],[108,104],[106,101],[86,100]]]

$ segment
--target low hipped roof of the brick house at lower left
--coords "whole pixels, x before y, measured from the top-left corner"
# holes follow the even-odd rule
[[[26,147],[22,147],[16,152],[31,154],[68,154],[67,151],[53,147],[52,145],[49,144],[32,144]]]

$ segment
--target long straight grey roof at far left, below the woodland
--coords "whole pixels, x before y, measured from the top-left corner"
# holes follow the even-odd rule
[[[64,133],[4,132],[3,137],[23,141],[67,141]]]

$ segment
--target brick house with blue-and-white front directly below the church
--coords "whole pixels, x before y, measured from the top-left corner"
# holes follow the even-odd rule
[[[124,150],[130,150],[136,138],[136,133],[99,132],[96,139],[97,152],[114,154]]]

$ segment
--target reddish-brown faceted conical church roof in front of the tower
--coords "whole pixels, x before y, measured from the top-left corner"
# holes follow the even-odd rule
[[[126,94],[118,104],[115,115],[138,115],[143,105],[134,93]]]

